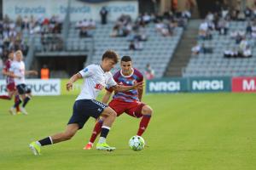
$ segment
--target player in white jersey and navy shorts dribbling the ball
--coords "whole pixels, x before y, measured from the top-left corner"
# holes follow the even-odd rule
[[[67,91],[73,87],[73,82],[80,78],[84,78],[84,85],[81,93],[77,97],[73,105],[73,116],[67,123],[67,128],[63,133],[56,133],[52,136],[46,137],[29,144],[34,155],[40,155],[41,146],[48,144],[55,144],[68,139],[72,139],[77,131],[84,127],[85,122],[91,117],[98,118],[103,116],[105,119],[102,122],[101,137],[96,144],[97,150],[115,150],[114,147],[106,143],[106,138],[110,127],[112,126],[116,112],[113,111],[108,105],[96,101],[99,92],[106,87],[113,88],[116,91],[128,91],[131,89],[143,88],[143,82],[134,83],[131,86],[121,86],[117,84],[110,73],[113,66],[118,63],[118,54],[112,50],[106,51],[102,55],[101,65],[88,65],[84,70],[79,71],[73,75],[67,82]]]

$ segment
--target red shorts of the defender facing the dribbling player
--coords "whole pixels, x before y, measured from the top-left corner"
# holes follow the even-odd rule
[[[119,99],[113,99],[108,105],[117,113],[117,116],[125,112],[130,116],[141,117],[143,116],[142,109],[145,104],[139,101],[125,102]]]

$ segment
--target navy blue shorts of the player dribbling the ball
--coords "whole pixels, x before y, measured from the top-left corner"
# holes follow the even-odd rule
[[[98,118],[106,107],[108,105],[96,101],[96,99],[79,99],[73,104],[73,115],[67,124],[77,123],[81,129],[90,116]]]

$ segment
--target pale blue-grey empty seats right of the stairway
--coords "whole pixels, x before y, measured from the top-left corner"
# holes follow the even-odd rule
[[[212,31],[211,40],[198,40],[199,46],[212,48],[211,53],[192,54],[189,64],[183,70],[183,77],[240,77],[256,75],[256,56],[253,38],[246,36],[249,47],[252,48],[253,57],[224,58],[227,49],[238,50],[239,44],[230,37],[234,31],[246,32],[247,21],[230,21],[229,31],[226,35],[219,35]],[[237,53],[237,52],[236,52]]]

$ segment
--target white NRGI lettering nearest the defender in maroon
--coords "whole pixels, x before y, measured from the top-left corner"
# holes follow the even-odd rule
[[[181,90],[180,82],[149,82],[149,92],[178,92]]]

